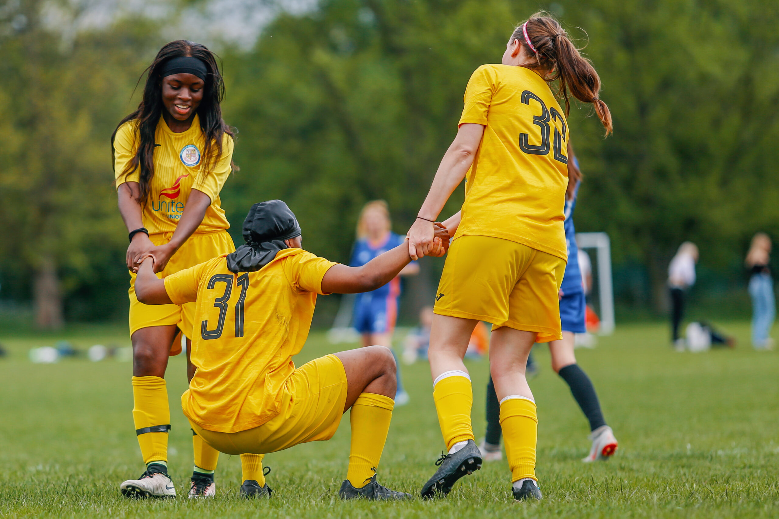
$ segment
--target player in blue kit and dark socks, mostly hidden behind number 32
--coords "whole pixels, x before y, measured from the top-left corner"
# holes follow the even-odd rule
[[[573,398],[590,423],[590,454],[582,461],[605,460],[617,450],[617,440],[612,428],[606,425],[601,412],[595,387],[587,373],[576,363],[574,355],[575,335],[587,331],[585,324],[585,294],[583,276],[579,268],[579,248],[576,247],[576,230],[573,226],[573,209],[576,208],[576,195],[581,184],[579,161],[568,144],[568,188],[566,190],[566,244],[568,245],[568,264],[566,274],[560,286],[560,323],[562,339],[549,342],[552,356],[552,370],[566,381]],[[500,451],[500,407],[495,395],[495,386],[490,377],[487,385],[487,431],[485,440],[479,447],[485,461],[502,458]]]

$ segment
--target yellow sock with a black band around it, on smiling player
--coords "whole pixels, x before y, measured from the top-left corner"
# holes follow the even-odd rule
[[[171,430],[171,409],[167,406],[167,386],[160,377],[132,377],[136,424],[143,463],[167,461],[167,431]]]

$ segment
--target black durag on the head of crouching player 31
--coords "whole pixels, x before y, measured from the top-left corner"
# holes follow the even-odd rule
[[[287,248],[284,240],[300,235],[298,219],[284,202],[268,200],[252,205],[243,226],[246,243],[227,254],[227,268],[234,273],[255,272]]]

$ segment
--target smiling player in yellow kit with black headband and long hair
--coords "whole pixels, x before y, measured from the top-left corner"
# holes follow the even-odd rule
[[[137,272],[150,254],[154,271],[170,275],[219,254],[234,251],[230,224],[219,193],[232,163],[231,129],[220,101],[224,83],[217,61],[203,45],[173,41],[148,68],[143,100],[119,123],[111,142],[119,212],[129,231],[127,267]],[[194,304],[152,307],[139,303],[130,279],[132,337],[132,416],[146,472],[122,482],[129,497],[175,496],[167,475],[167,433],[171,412],[164,374],[169,355],[181,352],[180,333],[192,338]],[[189,348],[187,355],[189,356]],[[192,377],[194,370],[188,370]],[[219,453],[192,437],[195,468],[190,497],[213,496]],[[262,458],[241,457],[245,495],[262,475]]]

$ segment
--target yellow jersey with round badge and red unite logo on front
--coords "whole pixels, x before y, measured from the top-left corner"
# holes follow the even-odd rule
[[[136,155],[140,139],[136,131],[137,121],[127,121],[116,132],[114,139],[114,170],[116,187],[125,182],[138,182],[140,170],[125,175],[125,167]],[[192,120],[189,130],[171,132],[164,118],[160,116],[154,132],[154,177],[151,181],[149,199],[143,207],[143,226],[149,233],[172,233],[192,189],[203,191],[211,198],[206,216],[196,232],[229,229],[230,223],[221,208],[219,193],[230,175],[233,156],[233,139],[225,134],[222,140],[222,154],[211,163],[213,171],[205,175],[204,158],[200,155],[205,144],[198,115]]]

